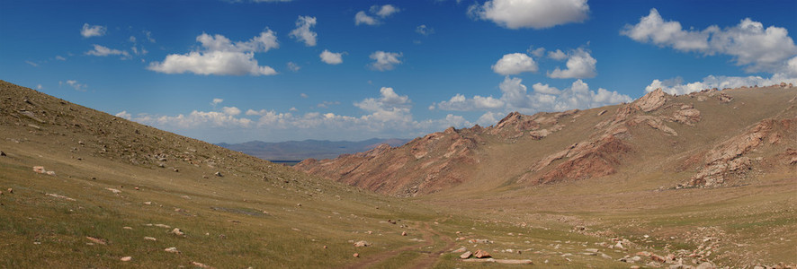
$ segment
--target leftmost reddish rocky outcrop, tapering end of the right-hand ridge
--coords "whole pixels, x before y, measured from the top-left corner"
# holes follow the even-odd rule
[[[469,169],[479,163],[475,151],[483,130],[448,128],[400,147],[383,144],[336,159],[301,161],[294,168],[381,194],[430,194],[469,178]]]

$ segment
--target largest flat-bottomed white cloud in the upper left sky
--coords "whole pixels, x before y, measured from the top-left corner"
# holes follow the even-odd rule
[[[163,62],[148,65],[151,71],[165,74],[216,74],[216,75],[271,75],[276,71],[267,65],[258,65],[255,52],[279,48],[273,30],[265,30],[247,41],[232,42],[222,35],[202,33],[196,38],[201,50],[188,54],[171,54]]]

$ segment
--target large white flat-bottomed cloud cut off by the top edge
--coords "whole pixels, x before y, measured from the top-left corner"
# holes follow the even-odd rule
[[[545,29],[587,20],[587,0],[489,0],[473,4],[468,13],[509,29]]]

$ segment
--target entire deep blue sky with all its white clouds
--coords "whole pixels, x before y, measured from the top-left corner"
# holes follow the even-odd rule
[[[211,143],[797,83],[797,1],[0,1],[0,79]]]

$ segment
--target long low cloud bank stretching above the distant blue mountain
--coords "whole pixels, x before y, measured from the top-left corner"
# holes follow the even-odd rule
[[[219,102],[220,103],[220,102]],[[158,116],[146,113],[137,116],[127,111],[118,115],[150,126],[157,126],[204,140],[230,142],[229,134],[239,139],[367,139],[371,137],[412,137],[454,127],[471,126],[464,117],[448,114],[441,118],[414,120],[412,101],[390,87],[381,88],[378,97],[354,102],[361,115],[339,115],[332,112],[293,114],[274,109],[225,107],[212,111],[193,110],[189,114]],[[289,111],[296,111],[291,108]],[[319,134],[325,136],[319,137]],[[246,138],[240,138],[246,137]]]

